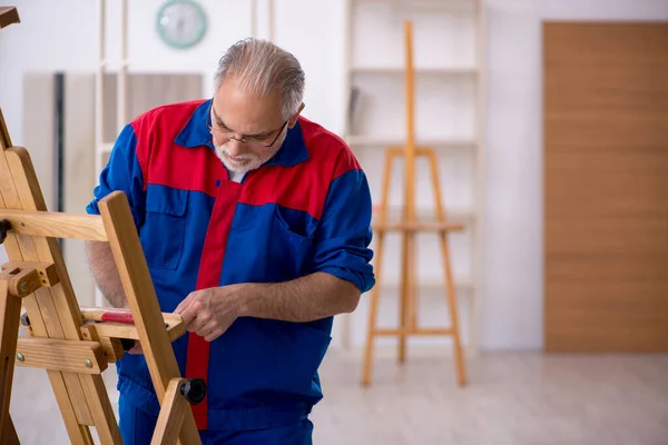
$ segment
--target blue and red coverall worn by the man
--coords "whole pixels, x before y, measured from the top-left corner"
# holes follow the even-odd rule
[[[99,214],[99,199],[127,195],[161,310],[197,289],[315,271],[371,289],[371,192],[345,142],[301,117],[278,152],[235,182],[212,144],[209,105],[161,106],[128,123],[87,207]],[[203,438],[310,441],[332,320],[243,317],[214,342],[194,333],[175,340],[181,375],[207,382],[205,402],[193,407]],[[126,355],[117,370],[124,439],[141,443],[159,411],[146,360]]]

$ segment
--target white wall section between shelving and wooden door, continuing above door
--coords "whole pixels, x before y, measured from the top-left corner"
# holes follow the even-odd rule
[[[666,0],[490,0],[482,344],[542,347],[542,20],[668,20]]]

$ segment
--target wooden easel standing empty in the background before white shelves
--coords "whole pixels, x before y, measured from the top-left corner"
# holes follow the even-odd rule
[[[414,69],[413,69],[413,28],[412,22],[404,23],[405,33],[405,93],[406,93],[406,142],[404,147],[389,147],[385,150],[385,166],[383,175],[383,185],[381,190],[381,204],[379,221],[373,225],[376,233],[375,248],[375,270],[376,284],[371,290],[371,303],[369,310],[369,328],[366,335],[366,346],[364,354],[364,364],[362,372],[362,384],[369,385],[371,382],[371,363],[373,355],[373,343],[376,336],[399,336],[399,360],[405,362],[406,357],[406,337],[410,335],[448,335],[452,336],[454,343],[454,358],[456,364],[456,375],[460,385],[466,384],[464,369],[464,358],[460,342],[460,330],[458,320],[456,296],[452,277],[452,267],[450,261],[450,250],[448,246],[448,234],[454,230],[462,230],[463,225],[448,222],[445,211],[441,204],[441,187],[439,180],[439,160],[433,148],[415,146],[415,126],[414,126]],[[432,187],[434,195],[434,205],[436,210],[435,222],[420,222],[415,218],[415,158],[426,157],[430,165]],[[403,215],[400,222],[387,221],[387,201],[392,176],[392,162],[394,158],[404,159],[404,205]],[[400,319],[396,329],[377,328],[379,294],[381,287],[381,270],[383,266],[383,246],[386,233],[399,231],[402,234],[402,267],[401,267],[401,301]],[[416,310],[416,278],[414,268],[414,248],[416,233],[435,233],[439,235],[441,251],[443,255],[446,301],[451,316],[450,328],[420,328],[418,326]]]

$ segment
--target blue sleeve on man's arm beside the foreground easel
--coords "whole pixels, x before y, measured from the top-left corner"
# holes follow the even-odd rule
[[[135,225],[141,226],[146,194],[144,175],[137,158],[137,135],[131,125],[127,125],[116,139],[109,162],[100,174],[99,184],[94,190],[92,200],[86,207],[86,212],[99,215],[99,200],[116,190],[126,194]]]

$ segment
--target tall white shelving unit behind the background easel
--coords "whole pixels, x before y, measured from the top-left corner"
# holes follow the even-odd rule
[[[452,261],[458,297],[469,299],[459,306],[460,318],[466,317],[462,326],[469,327],[461,333],[464,348],[475,354],[484,295],[485,0],[346,0],[344,76],[351,96],[344,98],[344,139],[369,177],[374,205],[380,204],[384,149],[404,144],[404,20],[412,20],[414,29],[416,144],[439,151],[446,215],[466,225],[463,235],[451,236]],[[352,115],[351,102],[355,103]],[[418,217],[430,220],[434,212],[429,170],[421,162],[416,168]],[[401,211],[403,180],[399,165],[394,171],[397,184],[391,192],[391,220],[392,214]],[[426,236],[419,241],[419,291],[445,291],[434,245],[435,239]],[[394,261],[395,269],[387,263],[399,258],[400,245],[390,241],[386,248],[390,261],[380,271],[381,305],[393,304],[384,297],[399,290],[399,261]],[[444,304],[444,295],[442,299]],[[340,318],[338,340],[344,348],[363,346],[353,332],[363,333],[366,319],[364,313]]]

